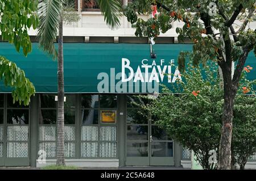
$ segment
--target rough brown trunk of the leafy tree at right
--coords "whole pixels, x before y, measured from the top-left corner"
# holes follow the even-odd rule
[[[222,70],[224,78],[224,113],[222,117],[221,140],[218,154],[218,169],[231,169],[231,141],[232,141],[232,121],[234,107],[234,92],[232,84],[231,66],[228,70]]]

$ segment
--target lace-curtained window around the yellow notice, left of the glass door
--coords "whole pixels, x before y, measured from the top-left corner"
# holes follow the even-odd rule
[[[117,121],[102,123],[102,110],[117,111],[117,95],[82,94],[81,157],[117,157]]]

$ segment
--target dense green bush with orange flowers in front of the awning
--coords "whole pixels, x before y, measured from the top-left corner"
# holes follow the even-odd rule
[[[179,82],[177,95],[167,87],[152,104],[158,123],[167,128],[174,140],[194,151],[204,169],[214,169],[209,164],[209,151],[218,148],[221,131],[223,93],[216,78],[216,65],[203,72],[188,68]],[[212,69],[212,71],[210,70]]]

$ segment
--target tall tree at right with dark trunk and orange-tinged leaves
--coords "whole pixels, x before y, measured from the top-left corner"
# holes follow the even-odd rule
[[[206,66],[208,60],[217,62],[220,66],[224,82],[224,109],[218,169],[230,169],[234,98],[249,52],[254,49],[256,56],[256,30],[247,26],[250,20],[255,20],[255,3],[256,0],[134,0],[124,8],[124,15],[136,28],[137,36],[156,39],[161,30],[166,32],[171,28],[172,22],[183,24],[182,28],[176,28],[178,40],[191,40],[193,50],[180,53],[180,71],[185,71],[187,57],[192,60],[193,66]],[[138,18],[136,13],[151,14],[151,6],[158,7],[159,15],[154,18],[157,26],[152,26],[151,19]],[[237,19],[242,23],[237,24]],[[166,26],[161,27],[159,24]],[[232,74],[234,61],[237,64]]]

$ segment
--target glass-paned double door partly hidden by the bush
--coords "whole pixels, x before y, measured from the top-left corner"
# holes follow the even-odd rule
[[[146,106],[147,100],[127,96],[126,165],[173,166],[174,142],[155,124],[157,117],[139,108],[138,104]]]

